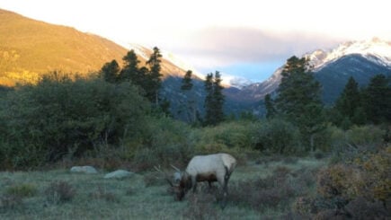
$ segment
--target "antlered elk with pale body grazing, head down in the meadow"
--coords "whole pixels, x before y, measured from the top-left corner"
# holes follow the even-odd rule
[[[173,187],[176,200],[182,200],[191,188],[193,192],[196,192],[199,181],[208,181],[209,187],[212,182],[218,181],[224,192],[224,200],[226,200],[228,180],[235,166],[236,160],[230,154],[196,155],[184,172],[173,166],[176,170],[173,175],[174,182],[167,178],[166,180]]]

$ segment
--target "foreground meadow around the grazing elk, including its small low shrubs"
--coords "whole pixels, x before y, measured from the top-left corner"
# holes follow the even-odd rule
[[[324,163],[301,158],[265,159],[241,164],[228,185],[231,192],[225,209],[219,206],[218,193],[207,193],[207,184],[203,183],[197,194],[188,193],[184,201],[174,201],[167,190],[168,185],[155,179],[153,172],[138,173],[125,180],[104,179],[106,172],[103,171],[80,174],[71,173],[68,168],[45,172],[0,172],[0,219],[283,218],[289,213],[290,204],[281,204],[290,198],[279,198],[281,201],[268,206],[254,206],[256,200],[246,201],[246,193],[250,191],[255,195],[262,189],[257,189],[252,182],[270,180],[271,185],[280,187],[278,179],[270,178],[275,172],[290,173],[297,179],[299,173],[315,171]],[[296,179],[291,177],[289,184],[295,185]],[[215,188],[215,192],[218,189]],[[314,189],[299,190],[310,193]],[[289,197],[295,198],[298,193],[289,194]]]

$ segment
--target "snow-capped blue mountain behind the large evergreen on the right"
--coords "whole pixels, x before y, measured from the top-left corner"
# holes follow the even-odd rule
[[[307,53],[314,66],[315,79],[323,85],[323,100],[332,104],[350,76],[360,85],[366,85],[374,75],[391,75],[391,42],[372,39],[342,43],[331,50]],[[266,81],[245,86],[233,97],[247,97],[248,101],[262,101],[268,93],[275,92],[281,80],[281,66]]]

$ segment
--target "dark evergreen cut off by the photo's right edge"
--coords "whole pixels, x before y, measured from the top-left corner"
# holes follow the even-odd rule
[[[375,75],[364,92],[368,119],[376,124],[391,122],[391,86],[386,75]]]

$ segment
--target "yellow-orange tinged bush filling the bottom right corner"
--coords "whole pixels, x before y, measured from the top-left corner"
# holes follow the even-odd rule
[[[391,216],[391,148],[378,147],[377,152],[360,151],[344,163],[333,164],[317,174],[315,199],[305,198],[305,206],[315,218],[335,216],[383,219]],[[308,205],[309,204],[309,205]]]

